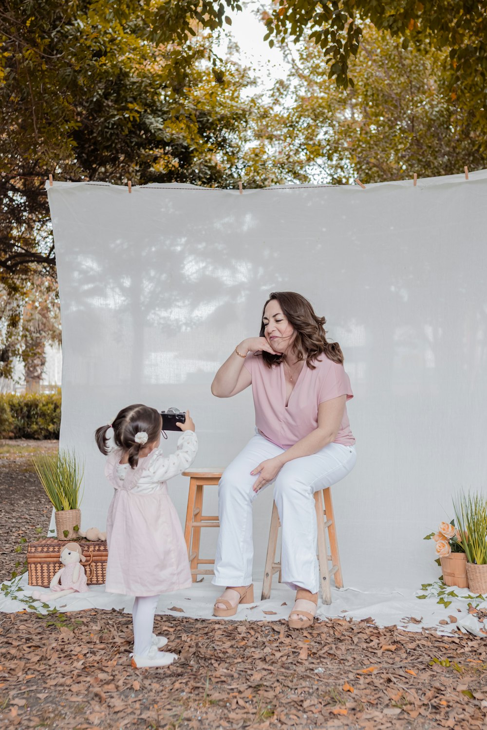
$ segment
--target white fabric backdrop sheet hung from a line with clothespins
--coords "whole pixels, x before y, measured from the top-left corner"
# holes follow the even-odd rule
[[[61,446],[85,458],[83,528],[112,490],[93,440],[121,407],[190,408],[194,466],[227,464],[253,433],[250,389],[210,383],[257,335],[271,291],[326,315],[355,399],[356,469],[333,490],[345,585],[437,577],[423,536],[451,495],[486,485],[487,171],[367,186],[221,191],[191,185],[46,185],[63,326]],[[169,436],[166,449],[175,448]],[[185,518],[188,481],[169,491]],[[205,512],[215,514],[216,488]],[[254,504],[262,574],[272,494]],[[214,555],[215,530],[202,552]]]

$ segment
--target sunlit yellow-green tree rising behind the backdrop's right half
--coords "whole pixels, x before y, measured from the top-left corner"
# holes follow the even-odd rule
[[[487,166],[475,114],[450,98],[445,52],[404,50],[400,39],[366,23],[350,66],[356,85],[344,89],[329,79],[313,42],[296,48],[297,59],[288,54],[291,74],[272,93],[275,112],[261,118],[247,150],[250,174],[269,169],[288,182],[340,184],[358,176],[372,183]]]

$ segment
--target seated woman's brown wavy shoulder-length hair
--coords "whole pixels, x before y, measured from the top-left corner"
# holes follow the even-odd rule
[[[307,366],[312,370],[315,369],[312,361],[320,355],[325,355],[334,363],[343,364],[343,353],[338,342],[328,342],[326,339],[326,331],[323,327],[326,319],[315,315],[315,310],[304,296],[296,294],[295,291],[273,291],[264,304],[262,318],[264,318],[267,304],[272,299],[279,302],[283,315],[296,332],[291,351],[298,360],[306,360]],[[265,327],[262,318],[261,337],[264,337]],[[283,360],[282,355],[271,355],[265,351],[263,351],[262,357],[269,367]]]

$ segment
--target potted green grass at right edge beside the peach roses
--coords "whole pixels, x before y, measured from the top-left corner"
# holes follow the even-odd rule
[[[469,588],[487,593],[487,496],[461,494],[453,500],[456,524],[464,535]]]

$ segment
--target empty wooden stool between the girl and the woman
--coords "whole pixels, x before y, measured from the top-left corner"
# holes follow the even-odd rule
[[[213,569],[199,568],[199,565],[214,565],[214,560],[199,557],[199,538],[202,527],[220,527],[218,515],[202,515],[203,509],[203,488],[205,486],[218,485],[222,472],[200,469],[198,472],[183,472],[183,477],[189,477],[188,509],[186,510],[186,522],[184,528],[184,539],[188,548],[188,558],[191,565],[193,583],[199,575],[214,575]],[[198,519],[194,518],[198,515]]]

